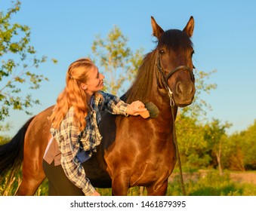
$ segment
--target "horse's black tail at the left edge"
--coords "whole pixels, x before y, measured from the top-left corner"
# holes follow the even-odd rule
[[[0,179],[3,178],[9,170],[14,172],[20,169],[20,165],[23,161],[25,133],[33,118],[34,117],[26,121],[10,142],[0,145]]]

